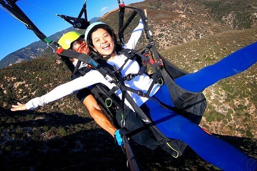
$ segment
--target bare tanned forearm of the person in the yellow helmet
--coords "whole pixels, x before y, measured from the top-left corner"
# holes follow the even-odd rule
[[[95,98],[92,95],[89,95],[85,98],[83,104],[88,108],[88,111],[95,122],[114,137],[114,132],[117,128],[114,127],[110,119],[102,111]]]

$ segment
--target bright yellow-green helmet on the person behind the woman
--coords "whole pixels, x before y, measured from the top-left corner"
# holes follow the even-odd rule
[[[62,37],[59,39],[58,44],[62,46],[63,49],[67,50],[71,47],[71,43],[78,38],[84,38],[85,35],[82,35],[76,31],[70,31],[68,33],[65,33],[62,35]]]

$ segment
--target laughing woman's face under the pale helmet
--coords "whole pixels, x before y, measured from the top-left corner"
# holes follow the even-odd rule
[[[106,57],[114,52],[114,41],[112,36],[103,28],[99,28],[92,33],[92,42],[94,50],[103,57]]]

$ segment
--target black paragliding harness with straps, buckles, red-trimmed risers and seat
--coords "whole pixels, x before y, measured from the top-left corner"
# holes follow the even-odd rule
[[[79,77],[85,75],[91,69],[94,69],[99,71],[110,83],[115,84],[115,87],[113,87],[111,90],[109,90],[105,85],[97,84],[92,89],[92,93],[98,100],[99,105],[102,107],[103,111],[108,115],[108,117],[111,119],[114,125],[122,128],[127,128],[126,117],[124,117],[124,112],[132,112],[132,110],[129,109],[129,107],[127,107],[124,103],[125,99],[128,100],[128,102],[131,104],[135,113],[138,115],[140,119],[137,120],[137,122],[139,122],[139,126],[135,129],[129,129],[130,133],[127,133],[126,137],[133,137],[137,134],[140,134],[142,130],[150,129],[155,137],[155,140],[157,140],[158,144],[162,146],[162,148],[165,151],[171,153],[172,156],[174,156],[175,158],[182,155],[183,151],[185,150],[186,144],[180,140],[173,140],[166,137],[155,126],[155,123],[153,123],[151,119],[149,119],[146,116],[146,114],[135,103],[135,101],[127,93],[127,91],[135,93],[140,97],[147,97],[150,100],[154,100],[156,103],[159,103],[158,101],[150,97],[149,94],[155,83],[159,84],[160,86],[166,84],[169,89],[170,97],[172,98],[175,107],[170,107],[160,103],[159,104],[162,107],[174,110],[175,112],[181,114],[182,116],[188,118],[196,124],[199,124],[202,119],[202,115],[206,108],[206,99],[202,92],[190,92],[185,89],[182,89],[181,87],[179,87],[179,85],[175,83],[174,79],[182,77],[188,73],[171,64],[164,57],[162,57],[161,54],[158,53],[155,43],[153,41],[152,32],[147,24],[147,18],[141,9],[126,6],[123,1],[121,3],[120,0],[118,0],[118,36],[120,44],[124,44],[124,31],[137,14],[139,14],[140,18],[142,19],[144,25],[144,32],[149,43],[142,52],[133,49],[122,49],[121,51],[119,51],[118,53],[125,55],[127,59],[125,60],[122,67],[117,69],[115,65],[111,66],[107,64],[107,62],[104,59],[92,57],[87,54],[82,54],[76,51],[64,50],[62,47],[60,47],[58,43],[47,38],[15,4],[16,2],[17,0],[0,0],[0,4],[3,6],[2,8],[10,15],[14,16],[16,19],[25,24],[28,29],[34,31],[34,33],[38,36],[38,38],[40,38],[40,40],[47,43],[48,47],[51,48],[54,53],[58,54],[60,59],[65,63],[65,65],[73,73],[73,75]],[[126,8],[132,10],[132,14],[127,19],[127,21],[125,21],[124,24],[124,15]],[[85,18],[81,18],[83,13],[85,15]],[[85,29],[89,25],[86,15],[86,1],[83,4],[82,10],[77,18],[69,17],[66,15],[58,16],[65,19],[65,21],[68,21],[75,28]],[[54,44],[58,48],[58,50],[55,51],[55,49],[50,44]],[[151,53],[152,51],[153,54]],[[78,64],[74,67],[69,58],[78,59]],[[131,73],[126,75],[125,77],[122,77],[120,72],[122,71],[123,67],[129,59],[136,60],[141,68],[138,73]],[[83,69],[78,69],[81,62],[88,64],[88,66]],[[149,75],[147,73],[148,65],[152,67],[152,69],[155,71],[154,74]],[[125,86],[124,81],[130,81],[135,77],[142,75],[143,73],[147,74],[150,78],[153,79],[152,84],[146,93],[141,90],[135,90],[131,87]],[[118,89],[120,89],[122,92],[121,100],[115,95],[115,91]],[[116,121],[118,111],[121,115],[121,119],[119,121]],[[117,115],[115,115],[115,113],[117,113]],[[138,142],[140,143],[140,141]],[[154,148],[154,146],[152,146],[152,148]]]

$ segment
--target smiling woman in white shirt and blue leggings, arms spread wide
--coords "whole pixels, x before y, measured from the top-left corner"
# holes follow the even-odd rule
[[[145,18],[142,17],[142,19],[144,19],[143,22],[146,22]],[[155,76],[161,71],[161,80],[162,78],[167,78],[165,76],[169,75],[167,71],[164,70],[166,67],[165,62],[150,62],[149,59],[146,59],[146,57],[138,51],[133,50],[142,34],[144,26],[147,25],[143,25],[142,20],[140,20],[139,25],[132,32],[127,44],[121,47],[118,46],[114,31],[107,24],[96,22],[90,25],[85,31],[86,42],[89,48],[91,48],[93,58],[99,57],[97,60],[101,61],[100,69],[104,70],[103,67],[106,66],[105,71],[109,72],[105,74],[106,72],[102,72],[99,67],[91,68],[84,76],[62,84],[41,97],[29,100],[25,105],[12,105],[12,110],[34,109],[71,94],[76,90],[81,90],[84,87],[103,85],[106,87],[105,90],[108,90],[107,94],[111,94],[121,101],[121,112],[117,112],[120,109],[120,106],[117,106],[116,108],[117,115],[122,118],[119,125],[121,128],[116,129],[114,135],[112,134],[115,136],[120,146],[122,145],[121,136],[124,135],[125,126],[128,124],[126,122],[127,117],[124,118],[123,113],[123,111],[125,111],[124,107],[127,107],[126,110],[129,110],[134,116],[136,114],[135,112],[143,111],[145,115],[148,116],[148,119],[154,124],[151,125],[151,127],[157,127],[163,135],[168,137],[169,140],[172,139],[173,142],[176,141],[188,144],[197,154],[199,154],[199,156],[209,163],[212,163],[214,166],[224,170],[255,170],[257,165],[255,158],[247,156],[229,143],[206,133],[196,124],[197,122],[193,121],[193,119],[184,117],[184,113],[182,113],[183,116],[180,115],[180,112],[178,112],[180,108],[176,106],[176,103],[181,100],[182,95],[184,94],[180,96],[181,98],[177,98],[179,100],[176,100],[176,96],[179,96],[179,93],[172,94],[170,93],[170,90],[177,88],[183,90],[185,93],[191,93],[190,95],[193,94],[194,97],[203,97],[201,91],[204,88],[223,78],[245,71],[256,63],[257,56],[255,55],[255,50],[257,48],[257,42],[229,55],[213,65],[204,67],[195,73],[184,73],[184,75],[180,75],[179,77],[169,77],[169,80],[165,79],[165,84],[163,84],[163,81],[157,80],[154,76],[151,77],[145,70],[144,72],[140,72],[142,67],[139,67],[138,61],[132,60],[135,59],[132,57],[138,55],[139,57],[142,57],[142,59],[148,60],[147,62],[149,64],[156,64],[154,65],[155,69],[157,66],[159,68],[155,70]],[[153,43],[154,42],[151,42],[152,45],[154,45]],[[77,45],[79,45],[79,43]],[[128,52],[126,54],[122,53],[122,51],[119,51],[119,48]],[[119,51],[119,53],[117,53],[117,51]],[[133,56],[129,56],[130,54]],[[107,69],[109,70],[107,71]],[[218,70],[225,72],[218,72]],[[172,84],[169,84],[169,81],[172,82]],[[189,103],[188,101],[190,101],[190,99],[182,99],[181,101],[179,101],[180,104],[183,102]],[[201,103],[202,101],[204,101],[205,104],[205,98],[200,99],[200,102],[194,101],[194,103]],[[106,101],[105,105],[108,107]],[[203,105],[204,109],[200,108],[202,110],[197,110],[199,108],[196,108],[196,114],[201,115],[201,112],[204,112],[205,107],[206,106]],[[187,112],[186,110],[183,110],[183,112],[184,111],[185,113]],[[139,120],[143,120],[143,118],[139,118]],[[144,120],[145,124],[151,123],[149,120]],[[133,122],[131,123],[133,124]],[[105,122],[103,125],[108,129],[108,125]],[[166,141],[165,144],[166,143],[170,146],[170,142]],[[185,146],[186,145],[184,145],[184,147]],[[172,146],[170,146],[170,149],[174,150]],[[179,154],[181,155],[181,152],[179,153],[178,150],[175,149],[174,151],[177,152],[176,156],[173,155],[174,157],[178,157]]]

